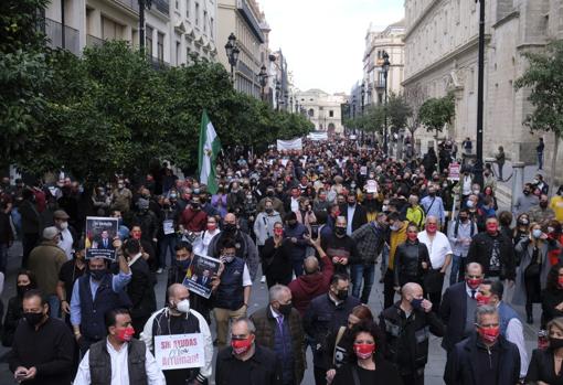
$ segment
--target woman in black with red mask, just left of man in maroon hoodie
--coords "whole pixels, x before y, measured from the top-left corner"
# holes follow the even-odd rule
[[[284,237],[284,225],[276,222],[274,235],[266,239],[261,255],[268,289],[276,284],[288,285],[291,281],[290,247],[289,238]]]

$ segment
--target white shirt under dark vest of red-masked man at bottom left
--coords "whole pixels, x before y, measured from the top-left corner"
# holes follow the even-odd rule
[[[127,365],[127,343],[121,345],[119,351],[115,350],[114,346],[106,339],[106,347],[109,353],[109,360],[111,363],[111,383],[110,385],[129,385],[129,367]],[[158,368],[157,361],[147,349],[145,353],[145,370],[147,371],[147,379],[149,385],[166,385],[164,375],[162,371]],[[89,350],[86,352],[84,357],[78,365],[78,373],[74,378],[74,385],[89,385],[92,378],[89,376]]]

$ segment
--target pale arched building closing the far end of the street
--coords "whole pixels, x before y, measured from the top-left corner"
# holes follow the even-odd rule
[[[299,108],[302,107],[307,118],[315,125],[316,131],[327,131],[329,135],[342,133],[341,108],[348,101],[344,94],[327,94],[321,89],[309,89],[295,94]]]

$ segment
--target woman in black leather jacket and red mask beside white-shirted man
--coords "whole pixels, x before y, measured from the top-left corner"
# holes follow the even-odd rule
[[[418,240],[418,227],[411,223],[406,228],[406,240],[399,245],[394,260],[395,290],[407,284],[423,286],[424,276],[431,266],[428,248]]]

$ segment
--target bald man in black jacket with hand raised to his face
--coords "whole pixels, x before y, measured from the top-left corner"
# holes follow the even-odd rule
[[[403,383],[410,385],[424,385],[429,333],[444,335],[444,324],[423,295],[418,284],[405,284],[401,289],[401,301],[380,316],[387,359],[397,366]]]

